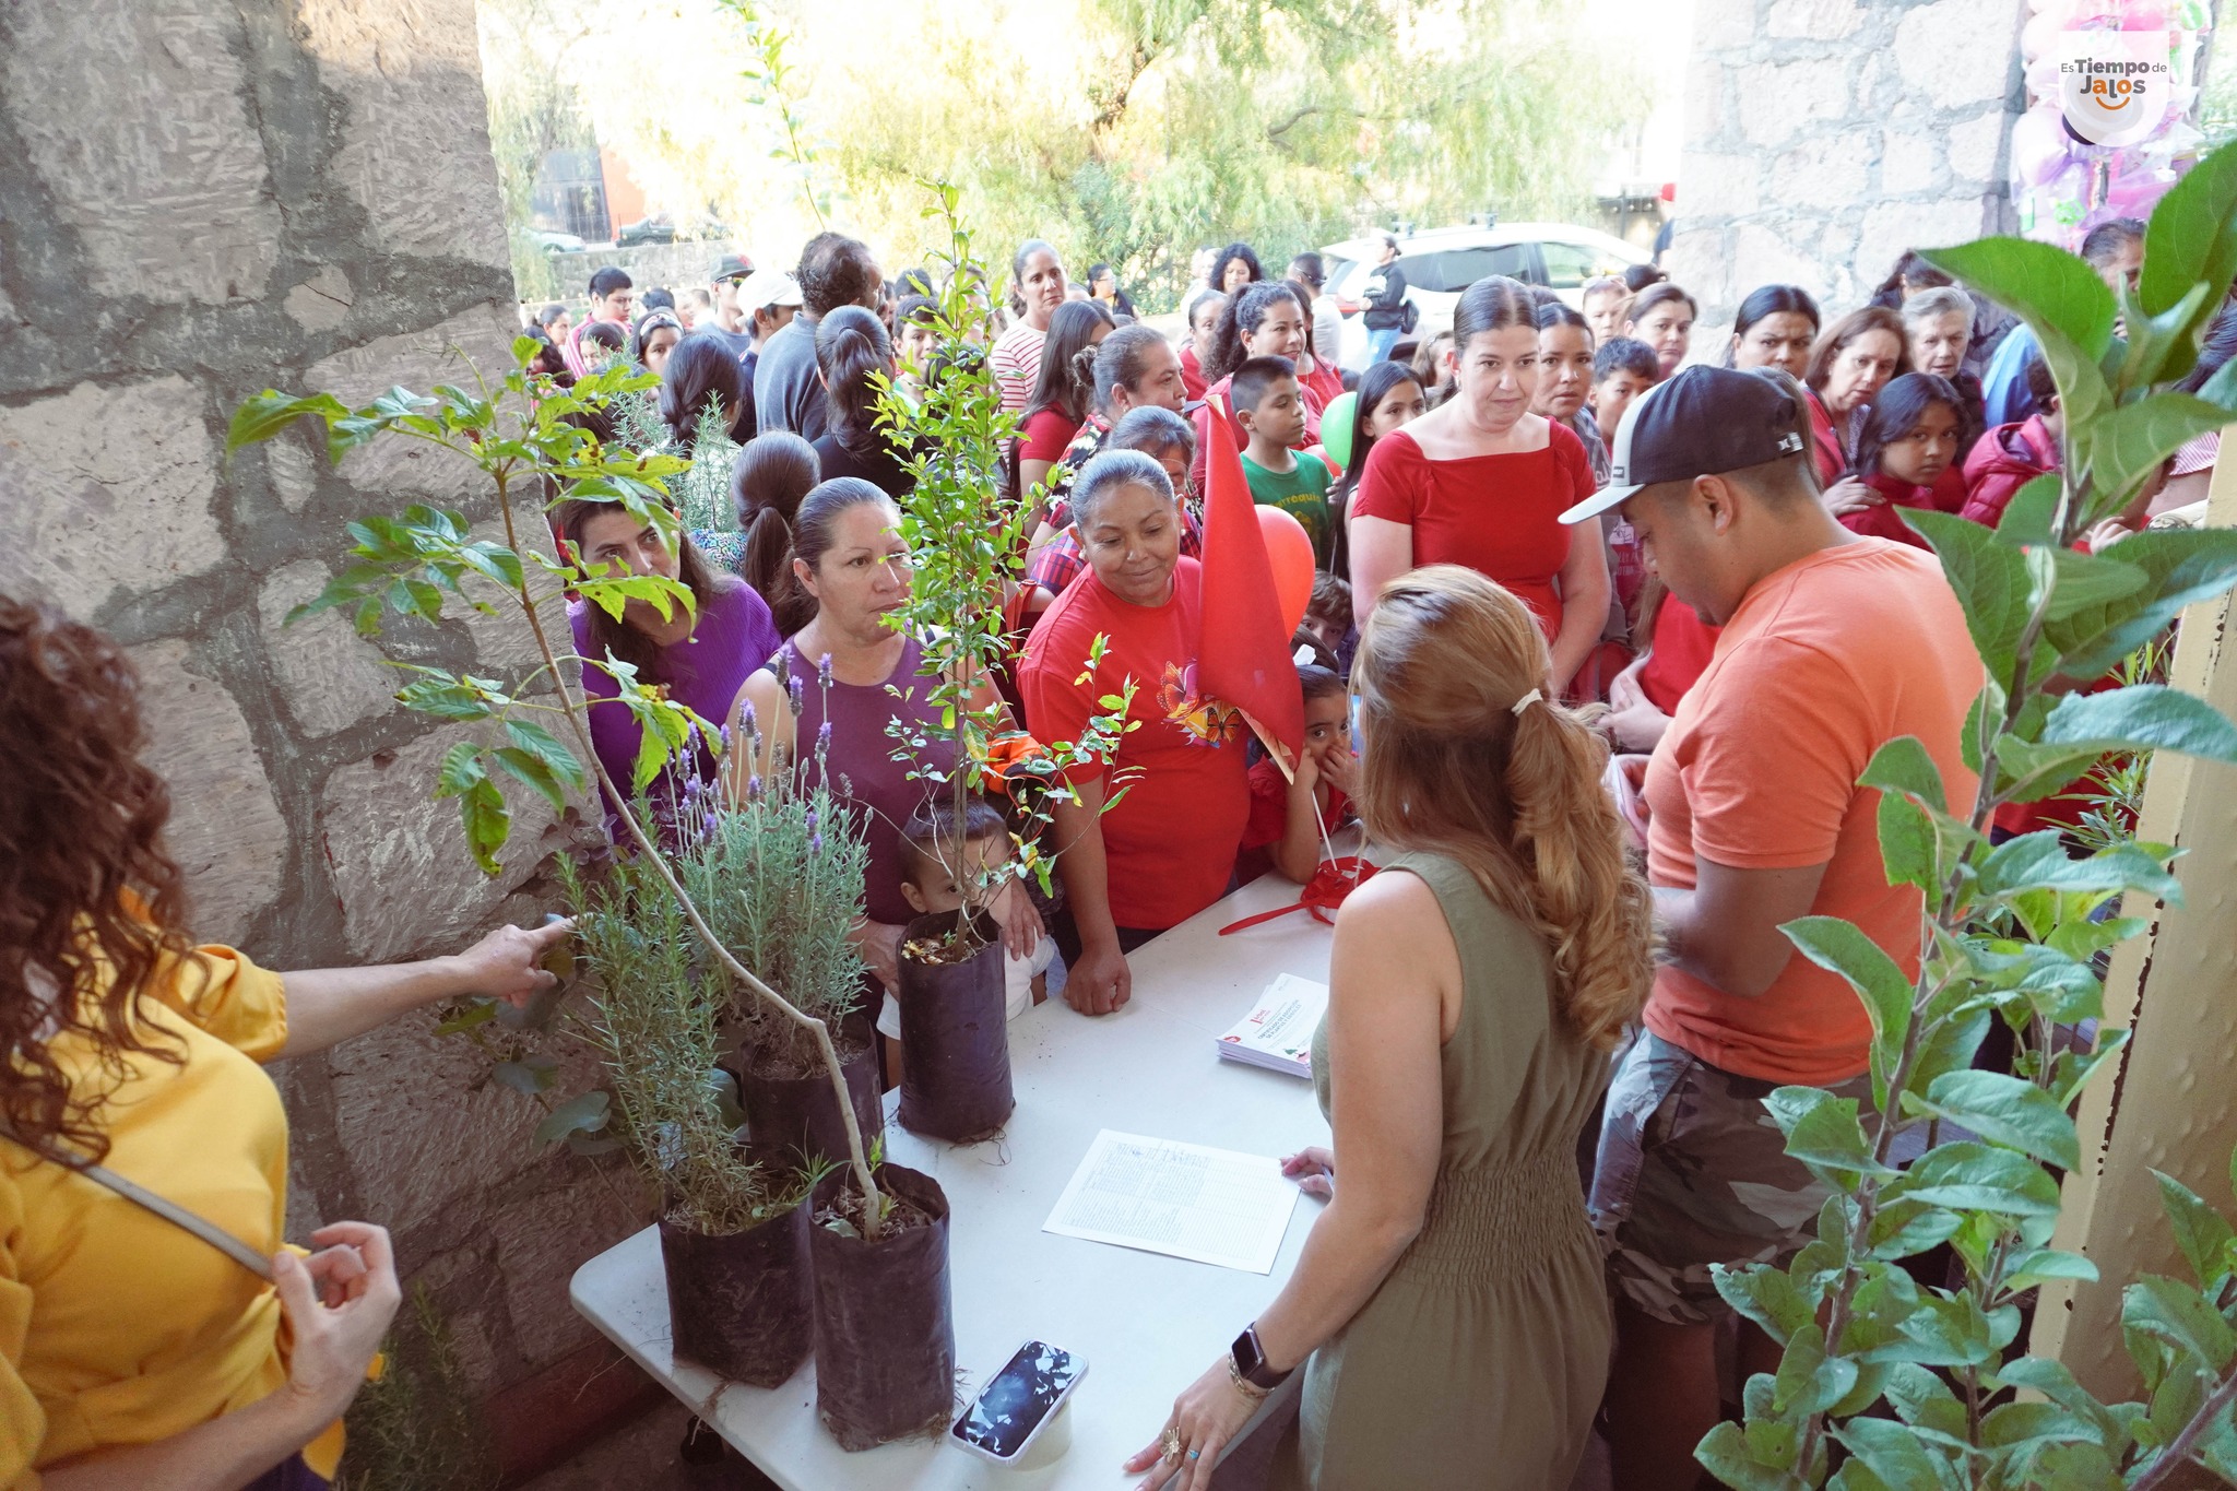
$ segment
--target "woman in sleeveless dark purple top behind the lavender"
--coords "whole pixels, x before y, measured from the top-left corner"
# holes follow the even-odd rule
[[[814,604],[810,619],[767,668],[745,680],[729,711],[729,738],[761,738],[761,753],[731,753],[729,789],[752,791],[754,776],[792,762],[814,769],[817,738],[834,791],[863,809],[870,863],[863,872],[866,921],[857,946],[886,990],[899,988],[902,928],[915,917],[902,899],[902,825],[955,765],[953,740],[940,731],[933,680],[917,668],[924,648],[888,617],[908,599],[908,545],[893,498],[857,476],[837,476],[801,498],[792,521],[792,579]],[[973,709],[995,704],[982,686]],[[922,735],[906,760],[888,726],[904,720]],[[1040,914],[1009,885],[995,899],[1004,943],[1029,955],[1040,941]]]

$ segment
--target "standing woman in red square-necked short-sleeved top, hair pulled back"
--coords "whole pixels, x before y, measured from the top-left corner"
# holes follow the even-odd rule
[[[1599,519],[1561,523],[1564,510],[1593,496],[1593,463],[1568,427],[1530,414],[1539,331],[1521,284],[1490,275],[1467,286],[1452,346],[1452,398],[1367,456],[1351,503],[1351,592],[1371,608],[1385,586],[1425,563],[1488,574],[1539,619],[1559,693],[1608,619]]]

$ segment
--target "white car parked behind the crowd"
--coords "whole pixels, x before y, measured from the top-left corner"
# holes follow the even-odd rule
[[[1382,257],[1382,237],[1344,239],[1320,250],[1327,270],[1327,293],[1344,308],[1344,342],[1338,358],[1349,369],[1367,367],[1365,308],[1367,279]],[[1420,320],[1414,338],[1452,331],[1452,308],[1461,291],[1485,275],[1508,275],[1523,284],[1544,284],[1564,302],[1584,308],[1584,286],[1599,275],[1620,275],[1631,264],[1653,255],[1633,248],[1613,232],[1570,224],[1499,224],[1497,228],[1429,228],[1398,239],[1398,268],[1405,270],[1405,297]]]

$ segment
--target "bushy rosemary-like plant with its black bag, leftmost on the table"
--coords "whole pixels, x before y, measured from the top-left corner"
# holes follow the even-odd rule
[[[649,863],[620,858],[600,883],[564,863],[561,881],[595,984],[575,1031],[611,1084],[602,1127],[660,1189],[676,1355],[781,1386],[814,1341],[805,1203],[817,1174],[740,1145],[743,1113],[716,1066],[729,979],[698,957],[682,905]]]

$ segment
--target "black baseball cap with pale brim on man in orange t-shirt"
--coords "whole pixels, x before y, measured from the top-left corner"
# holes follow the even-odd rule
[[[1722,476],[1803,454],[1801,407],[1765,373],[1689,367],[1631,400],[1608,447],[1608,485],[1561,514],[1595,519],[1658,481]]]

